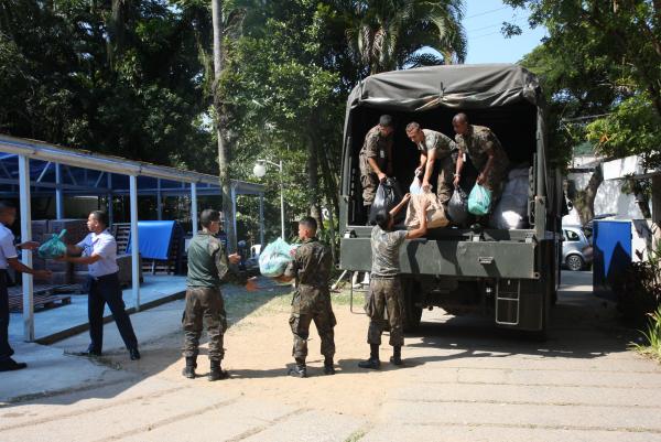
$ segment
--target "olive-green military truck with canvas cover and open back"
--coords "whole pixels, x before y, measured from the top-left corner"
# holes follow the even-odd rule
[[[389,114],[395,122],[393,175],[408,187],[420,154],[405,136],[418,121],[454,138],[452,118],[490,128],[514,164],[529,166],[524,229],[446,227],[401,249],[405,328],[418,327],[423,309],[480,313],[500,327],[544,336],[560,282],[560,173],[545,141],[544,106],[534,75],[517,65],[449,65],[377,74],[351,91],[345,119],[340,186],[339,267],[369,271],[368,214],[361,201],[358,154],[365,136]]]

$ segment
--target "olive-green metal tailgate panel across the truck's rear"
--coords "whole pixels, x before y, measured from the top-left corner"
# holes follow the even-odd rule
[[[343,238],[339,267],[369,271],[369,238]],[[516,241],[408,240],[400,251],[402,273],[537,279],[535,245]]]

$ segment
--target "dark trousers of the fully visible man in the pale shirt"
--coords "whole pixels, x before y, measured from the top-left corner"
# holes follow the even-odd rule
[[[127,348],[138,348],[138,339],[121,299],[121,288],[119,287],[117,273],[99,278],[89,277],[88,282],[87,316],[89,319],[89,337],[91,338],[89,349],[100,353],[104,347],[104,309],[106,303],[112,313],[112,319]]]

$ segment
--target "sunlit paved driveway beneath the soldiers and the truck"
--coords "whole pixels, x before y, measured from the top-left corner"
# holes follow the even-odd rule
[[[661,441],[661,368],[627,351],[635,334],[614,321],[613,305],[593,298],[586,283],[588,273],[566,274],[545,343],[434,310],[408,337],[404,369],[386,365],[365,374],[349,367],[365,353],[365,319],[340,305],[340,325],[357,327],[359,336],[351,328],[338,337],[356,349],[346,349],[354,358],[342,363],[335,379],[279,380],[273,371],[209,386],[178,377],[178,362],[147,375],[105,366],[113,376],[0,408],[0,440]],[[167,323],[172,311],[163,308]],[[148,320],[152,326],[158,312]],[[248,333],[240,325],[237,333]],[[269,391],[277,381],[283,390]],[[261,382],[262,390],[237,388],[241,382]],[[306,395],[292,400],[281,394],[289,386]],[[334,386],[342,391],[330,391]],[[346,403],[319,405],[324,396]]]

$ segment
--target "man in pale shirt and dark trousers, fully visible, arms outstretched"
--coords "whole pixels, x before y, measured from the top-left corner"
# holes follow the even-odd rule
[[[101,211],[94,211],[87,218],[88,234],[85,239],[76,245],[67,245],[68,255],[62,260],[87,265],[89,269],[88,305],[89,337],[91,339],[87,351],[78,353],[79,356],[100,356],[104,346],[104,309],[106,303],[110,308],[112,319],[119,328],[119,334],[129,351],[131,360],[140,359],[138,339],[131,325],[131,319],[124,310],[119,285],[119,267],[117,266],[117,241],[108,231],[108,215]],[[78,257],[79,255],[83,255]]]

